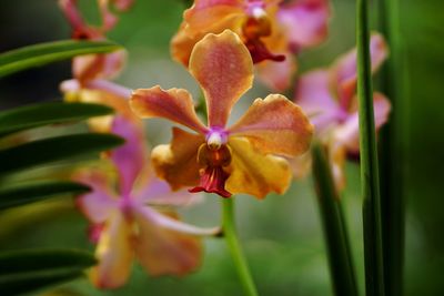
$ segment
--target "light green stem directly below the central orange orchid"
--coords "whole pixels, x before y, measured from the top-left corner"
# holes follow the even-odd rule
[[[256,296],[258,290],[253,282],[253,277],[250,274],[249,266],[246,264],[245,256],[243,255],[241,245],[238,239],[235,224],[234,224],[234,197],[222,200],[222,226],[223,235],[226,241],[226,245],[230,249],[231,257],[238,271],[239,278],[241,279],[245,295]]]

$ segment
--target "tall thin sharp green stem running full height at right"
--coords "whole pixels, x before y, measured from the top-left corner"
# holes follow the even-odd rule
[[[366,295],[384,295],[381,196],[370,63],[369,2],[356,3],[357,96]]]

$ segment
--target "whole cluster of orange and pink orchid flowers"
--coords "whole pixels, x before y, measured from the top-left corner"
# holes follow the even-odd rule
[[[112,11],[125,11],[132,2],[98,0],[102,23],[93,27],[81,17],[77,1],[59,1],[72,37],[87,40],[104,39],[118,22]],[[232,109],[253,85],[254,70],[273,90],[291,85],[296,53],[325,39],[329,17],[327,0],[195,0],[183,13],[171,52],[203,93],[205,123],[184,89],[154,85],[131,91],[111,82],[124,63],[123,51],[73,60],[73,79],[61,84],[67,100],[115,109],[115,115],[94,119],[90,127],[127,141],[103,155],[114,177],[91,169],[73,176],[92,188],[78,204],[98,244],[99,264],[91,271],[95,286],[123,285],[133,258],[151,275],[194,271],[200,236],[220,229],[180,222],[175,208],[192,204],[199,192],[224,198],[283,194],[293,178],[292,166],[296,175],[310,167],[313,134],[329,149],[337,187],[344,186],[345,155],[359,153],[355,50],[329,69],[297,78],[294,101],[276,93],[256,99],[228,126]],[[372,35],[371,54],[376,71],[387,55],[382,35]],[[374,108],[379,129],[391,106],[375,93]],[[151,154],[141,120],[150,118],[182,126],[174,126],[171,143],[155,146]]]

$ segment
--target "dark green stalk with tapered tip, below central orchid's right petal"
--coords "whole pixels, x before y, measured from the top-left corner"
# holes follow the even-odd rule
[[[341,201],[336,194],[329,161],[320,143],[314,143],[313,176],[329,255],[330,274],[336,296],[356,296],[357,284]]]

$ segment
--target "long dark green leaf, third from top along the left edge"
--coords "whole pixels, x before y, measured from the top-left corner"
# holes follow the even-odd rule
[[[112,134],[73,134],[38,140],[0,151],[0,175],[33,166],[93,154],[124,143]]]

